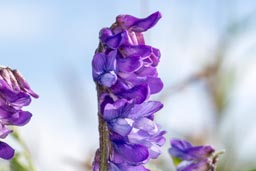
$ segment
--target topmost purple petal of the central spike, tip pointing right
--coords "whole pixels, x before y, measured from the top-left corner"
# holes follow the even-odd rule
[[[155,12],[150,16],[139,19],[131,15],[120,15],[117,17],[117,23],[124,28],[130,29],[134,32],[144,32],[153,27],[161,18],[160,12]]]

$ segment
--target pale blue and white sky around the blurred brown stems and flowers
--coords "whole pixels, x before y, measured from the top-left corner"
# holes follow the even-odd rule
[[[228,19],[243,18],[253,11],[255,18],[255,10],[256,1],[252,0],[0,1],[0,64],[20,70],[40,95],[29,107],[34,116],[23,130],[39,168],[75,170],[62,165],[65,157],[82,160],[97,147],[91,59],[98,44],[98,31],[110,26],[117,15],[145,17],[155,11],[162,13],[163,18],[146,38],[162,52],[159,74],[168,87],[213,60],[211,54]],[[233,96],[243,98],[234,100],[237,108],[230,109],[237,113],[234,124],[247,110],[248,117],[256,118],[255,105],[244,100],[248,98],[244,91],[251,95],[251,101],[256,100],[256,82],[250,79],[256,76],[256,59],[253,51],[247,52],[256,44],[254,30],[250,28],[246,32],[250,34],[243,33],[232,43],[227,55],[227,67],[234,66],[241,81]],[[200,86],[194,85],[166,102],[159,114],[165,128],[188,132],[191,128],[200,130],[205,125],[203,121],[210,122],[205,116],[209,106]],[[186,124],[184,117],[188,118]],[[246,123],[248,120],[242,125]],[[244,128],[244,132],[251,130],[255,127]],[[256,137],[255,133],[250,142],[256,142],[251,137]],[[245,149],[245,154],[246,150],[252,149]]]

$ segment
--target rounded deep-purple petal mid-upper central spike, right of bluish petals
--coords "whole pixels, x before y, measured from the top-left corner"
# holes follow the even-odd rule
[[[134,72],[142,66],[140,56],[130,56],[117,59],[117,66],[121,72]]]

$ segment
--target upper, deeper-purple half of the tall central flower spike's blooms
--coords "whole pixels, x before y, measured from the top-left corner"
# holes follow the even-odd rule
[[[103,28],[92,62],[94,81],[122,98],[143,96],[137,103],[158,93],[163,88],[155,68],[160,51],[145,45],[142,32],[153,27],[160,18],[159,12],[143,19],[120,15],[110,28]]]

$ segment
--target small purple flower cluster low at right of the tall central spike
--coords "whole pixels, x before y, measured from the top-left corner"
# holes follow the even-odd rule
[[[169,153],[177,171],[215,171],[218,157],[225,151],[215,152],[212,146],[193,146],[179,139],[171,140]]]

